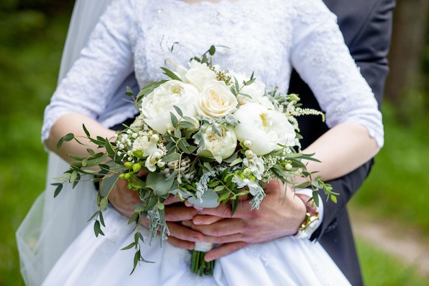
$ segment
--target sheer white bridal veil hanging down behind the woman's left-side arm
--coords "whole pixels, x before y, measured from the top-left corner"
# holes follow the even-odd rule
[[[110,0],[77,0],[64,45],[58,80],[64,78],[79,56],[90,32],[106,10]],[[49,152],[46,189],[34,202],[29,213],[16,232],[21,273],[27,286],[40,285],[60,254],[88,224],[95,212],[95,187],[92,182],[81,182],[81,187],[72,189],[64,184],[57,198],[54,178],[63,176],[69,164]],[[58,182],[58,181],[57,181]],[[92,191],[94,190],[94,191]]]

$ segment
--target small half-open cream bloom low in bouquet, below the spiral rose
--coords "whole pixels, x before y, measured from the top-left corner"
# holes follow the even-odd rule
[[[230,126],[216,124],[216,128],[219,131],[220,136],[213,130],[212,125],[208,125],[206,128],[201,130],[202,142],[199,142],[197,139],[195,141],[197,144],[201,145],[197,150],[198,154],[201,154],[201,152],[204,151],[210,151],[213,158],[215,158],[218,163],[221,163],[223,159],[234,154],[237,146],[237,136],[234,132],[234,128]]]

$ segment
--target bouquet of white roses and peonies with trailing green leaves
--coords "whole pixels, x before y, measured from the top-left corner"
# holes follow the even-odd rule
[[[91,217],[97,236],[103,235],[102,212],[117,180],[127,180],[127,187],[138,192],[141,202],[130,218],[136,223],[134,241],[124,248],[136,250],[133,272],[139,261],[145,261],[140,254],[140,220],[149,218],[151,240],[157,234],[162,240],[169,235],[163,204],[169,195],[205,208],[232,201],[234,213],[243,195],[252,196],[251,207],[258,208],[264,185],[279,180],[293,190],[310,185],[315,203],[318,189],[335,200],[330,185],[306,170],[305,160],[316,159],[299,150],[296,117],[321,112],[300,108],[297,95],[267,88],[253,74],[217,67],[214,53],[212,46],[193,58],[188,68],[162,67],[168,79],[147,84],[136,97],[128,88],[139,111],[134,123],[117,132],[114,141],[93,138],[84,126],[87,138],[106,151],[88,149],[88,157],[71,155],[75,162],[67,176],[54,183],[58,195],[64,182],[74,187],[84,175],[99,182],[99,211]],[[58,147],[73,139],[79,142],[67,134]],[[144,178],[138,176],[142,170]],[[307,182],[299,184],[297,177]],[[204,261],[208,250],[193,251],[193,272],[212,272],[214,265]]]

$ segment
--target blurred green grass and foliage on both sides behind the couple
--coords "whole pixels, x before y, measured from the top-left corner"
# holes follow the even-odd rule
[[[44,189],[47,154],[40,143],[42,113],[57,81],[73,1],[2,0],[0,3],[0,285],[23,286],[14,233]],[[418,73],[429,78],[429,48]],[[363,188],[351,202],[355,219],[393,233],[413,229],[429,241],[428,91],[404,90],[401,104],[384,102],[386,143]],[[403,108],[408,106],[408,108]],[[357,235],[367,285],[429,285],[429,274]],[[389,237],[385,237],[389,239]],[[403,241],[404,245],[408,241]]]

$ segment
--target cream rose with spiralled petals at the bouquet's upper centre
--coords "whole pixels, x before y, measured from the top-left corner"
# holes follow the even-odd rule
[[[237,109],[237,99],[225,82],[211,80],[199,95],[198,115],[221,118]]]

